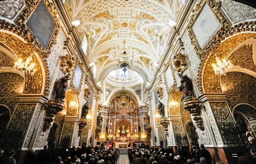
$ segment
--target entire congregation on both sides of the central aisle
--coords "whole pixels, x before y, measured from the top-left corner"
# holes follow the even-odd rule
[[[238,164],[256,164],[256,142],[248,138],[250,142],[250,155],[242,155],[238,158]],[[212,155],[205,149],[203,144],[199,146],[190,145],[189,152],[183,146],[178,146],[174,154],[170,146],[143,146],[140,148],[129,148],[129,164],[212,164]],[[119,158],[118,149],[105,149],[99,147],[73,147],[69,151],[69,157],[55,157],[54,153],[44,146],[37,155],[35,150],[29,150],[24,159],[24,164],[116,164]],[[14,158],[15,150],[7,152],[2,157],[3,150],[0,150],[0,164],[16,164]],[[55,157],[55,158],[54,158]],[[216,164],[223,164],[217,162]]]

